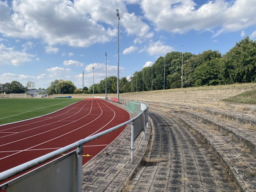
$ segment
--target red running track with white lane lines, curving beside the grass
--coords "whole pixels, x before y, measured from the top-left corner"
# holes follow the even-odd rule
[[[102,99],[84,99],[46,116],[0,126],[0,172],[129,119],[129,113],[111,103]],[[83,164],[110,144],[124,128],[86,143]]]

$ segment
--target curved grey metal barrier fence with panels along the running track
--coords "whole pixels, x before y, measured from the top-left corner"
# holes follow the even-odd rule
[[[105,98],[107,99],[107,98]],[[111,100],[111,99],[109,99]],[[24,175],[0,185],[0,190],[5,192],[28,192],[28,191],[55,191],[55,192],[81,192],[82,190],[82,154],[83,145],[105,134],[108,134],[124,125],[131,123],[131,164],[134,163],[134,140],[143,131],[145,140],[145,125],[148,127],[148,105],[145,102],[131,99],[112,98],[113,102],[126,105],[127,102],[137,102],[141,105],[141,112],[134,118],[120,125],[102,131],[90,137],[67,145],[44,156],[38,157],[20,166],[0,173],[0,182],[7,180],[17,174],[25,172],[35,166],[39,166],[55,157],[50,161]],[[76,150],[74,150],[76,148]],[[73,150],[73,151],[72,151]],[[64,156],[61,154],[72,151]],[[59,157],[61,156],[61,157]],[[2,192],[2,190],[1,190]]]

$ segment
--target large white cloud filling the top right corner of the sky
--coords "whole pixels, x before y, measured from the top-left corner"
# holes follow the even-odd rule
[[[218,32],[232,32],[256,24],[255,0],[211,0],[202,5],[193,0],[142,0],[141,7],[156,30],[180,34],[219,27]]]

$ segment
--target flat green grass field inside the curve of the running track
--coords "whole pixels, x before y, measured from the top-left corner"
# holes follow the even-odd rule
[[[0,99],[0,125],[29,119],[61,108],[82,99]]]

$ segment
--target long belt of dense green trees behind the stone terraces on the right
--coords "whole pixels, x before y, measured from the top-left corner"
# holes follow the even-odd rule
[[[116,93],[116,81],[115,76],[107,78],[108,93]],[[136,71],[130,79],[122,77],[119,90],[126,93],[181,88],[181,83],[183,87],[198,87],[248,82],[256,82],[256,41],[247,36],[224,55],[218,50],[207,50],[198,55],[168,52],[151,67]],[[89,93],[92,89],[93,85],[89,87]],[[94,84],[94,93],[105,93],[105,79]]]

